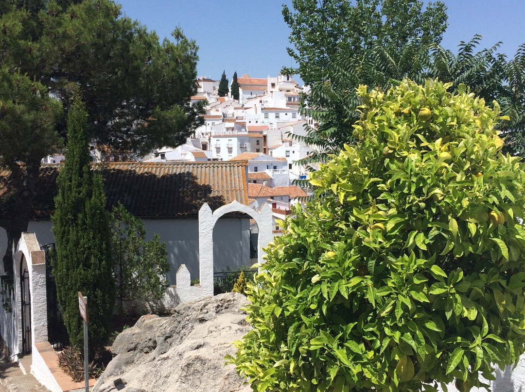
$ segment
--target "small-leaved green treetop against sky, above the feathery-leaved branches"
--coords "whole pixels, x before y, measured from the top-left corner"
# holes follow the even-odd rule
[[[363,50],[388,48],[395,53],[418,38],[420,45],[441,41],[447,27],[443,2],[414,0],[292,0],[292,9],[283,5],[282,15],[291,29],[289,55],[307,85],[329,80],[337,64],[338,53],[344,58],[359,58]]]

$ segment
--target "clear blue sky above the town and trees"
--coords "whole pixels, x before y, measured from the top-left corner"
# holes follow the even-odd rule
[[[459,41],[475,34],[481,47],[503,41],[501,53],[513,57],[525,42],[525,0],[444,0],[448,28],[442,46],[456,51]],[[290,66],[286,52],[290,30],[282,19],[288,0],[117,0],[122,12],[139,20],[159,37],[170,37],[180,26],[199,46],[198,75],[220,79],[223,70],[231,80],[235,71],[254,78],[276,76]]]

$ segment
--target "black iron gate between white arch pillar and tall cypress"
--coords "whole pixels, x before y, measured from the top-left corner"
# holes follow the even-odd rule
[[[69,344],[69,336],[58,307],[57,285],[51,268],[51,252],[55,251],[55,243],[43,245],[40,249],[46,253],[47,340],[55,349],[62,349]]]

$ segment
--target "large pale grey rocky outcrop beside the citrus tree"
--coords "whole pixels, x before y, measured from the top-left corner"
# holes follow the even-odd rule
[[[92,392],[251,392],[224,359],[251,328],[245,304],[227,293],[182,303],[170,317],[143,316],[114,341]]]

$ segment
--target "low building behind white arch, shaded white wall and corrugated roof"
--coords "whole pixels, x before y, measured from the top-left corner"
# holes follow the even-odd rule
[[[43,165],[37,197],[28,231],[35,232],[40,245],[55,242],[51,232],[57,193],[56,178],[61,164]],[[176,284],[177,269],[185,264],[192,279],[199,275],[198,211],[207,203],[212,211],[234,200],[248,205],[246,162],[108,162],[93,164],[104,182],[108,208],[120,201],[140,217],[146,239],[154,233],[167,245],[171,271],[166,278]],[[8,186],[9,173],[0,171]],[[0,252],[7,237],[0,229]],[[233,270],[250,264],[250,224],[245,215],[227,214],[213,231],[214,269]]]

